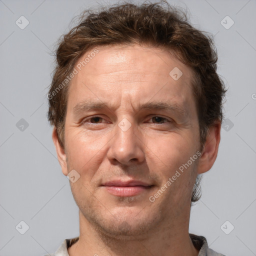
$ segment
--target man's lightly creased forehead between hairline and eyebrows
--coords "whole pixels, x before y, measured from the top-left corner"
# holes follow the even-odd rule
[[[189,107],[193,101],[192,70],[164,49],[137,44],[96,47],[75,68],[68,108],[95,99],[116,107],[134,107],[150,99],[179,101]]]

